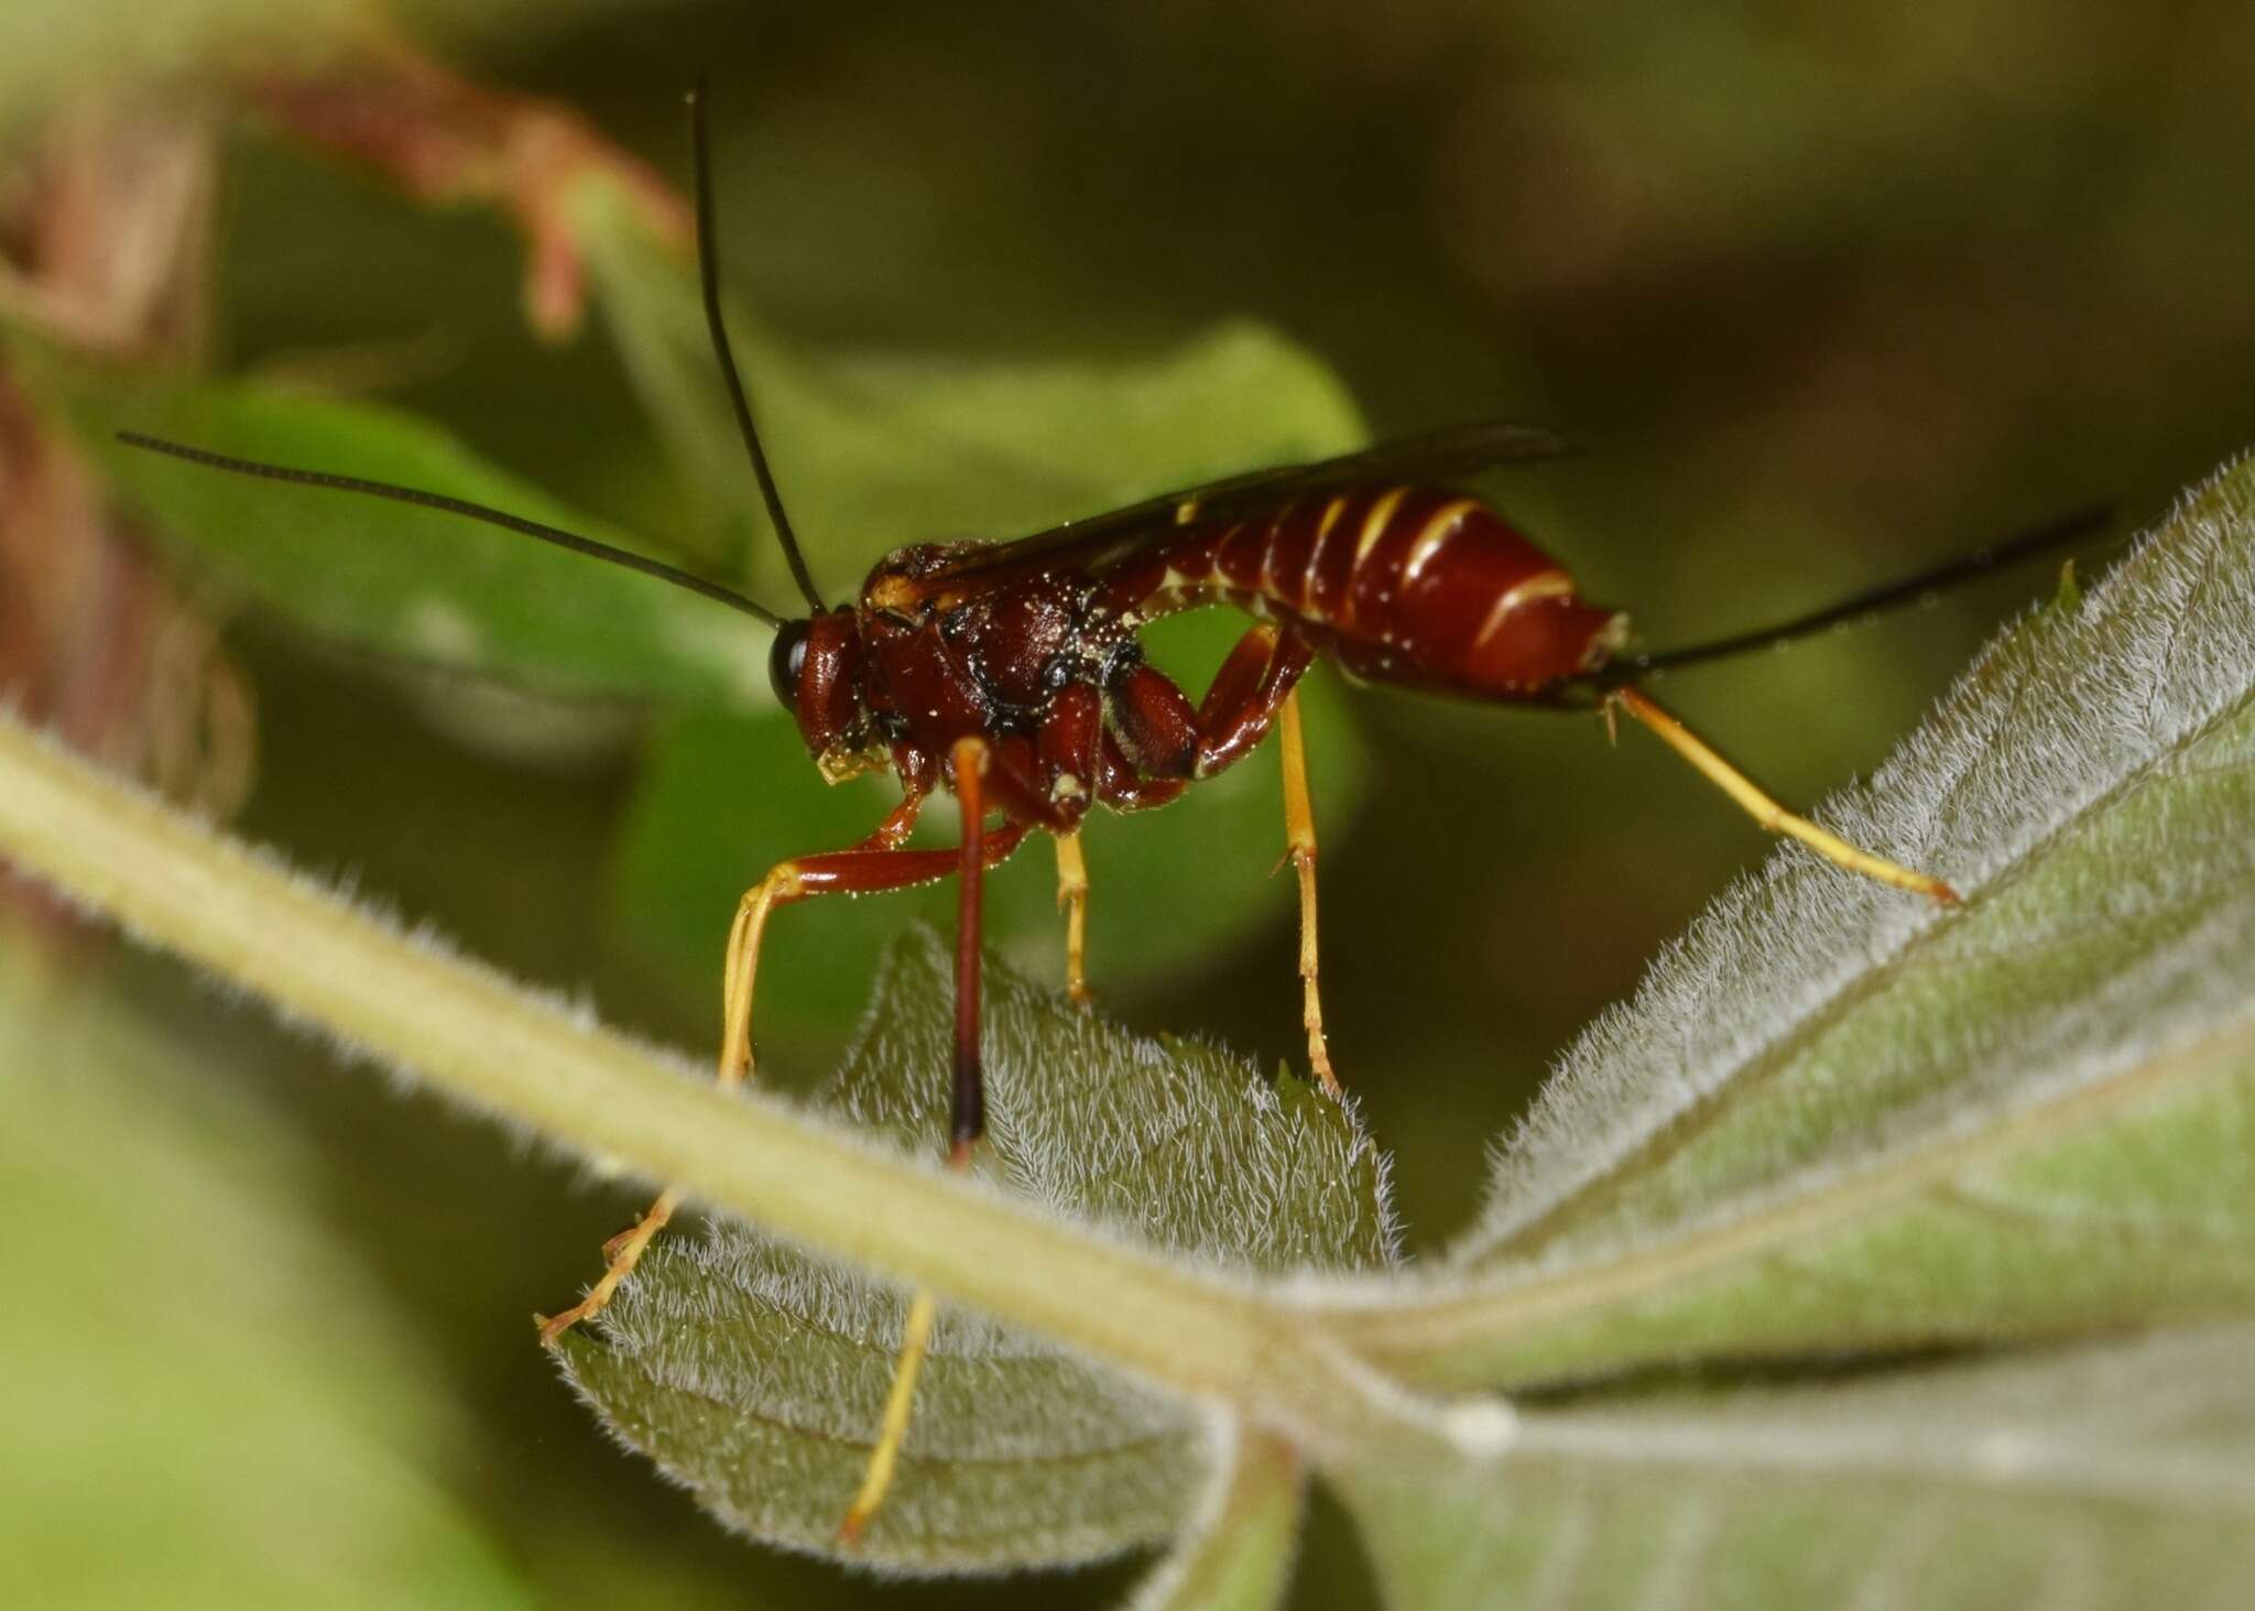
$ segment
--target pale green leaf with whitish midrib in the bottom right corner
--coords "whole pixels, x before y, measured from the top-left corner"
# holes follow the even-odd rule
[[[1387,1604],[2232,1606],[2255,1327],[1524,1412],[1486,1462],[1335,1473]]]

